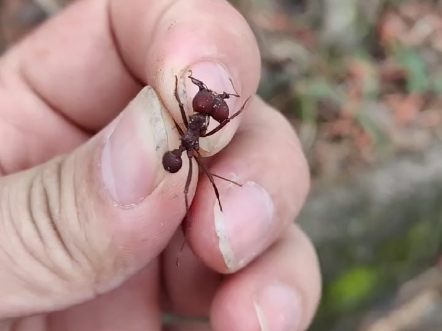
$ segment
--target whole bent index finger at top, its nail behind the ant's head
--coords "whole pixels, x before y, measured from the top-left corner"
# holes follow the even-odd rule
[[[82,0],[10,51],[0,72],[7,85],[30,89],[95,132],[143,85],[151,85],[181,122],[174,75],[189,67],[216,91],[231,88],[232,78],[245,100],[256,91],[259,66],[249,26],[224,0]],[[225,143],[236,127],[223,130]]]

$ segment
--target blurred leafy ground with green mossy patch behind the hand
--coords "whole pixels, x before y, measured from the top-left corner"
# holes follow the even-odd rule
[[[0,49],[69,2],[0,0]],[[231,2],[260,43],[259,94],[311,167],[311,330],[442,330],[442,1]]]

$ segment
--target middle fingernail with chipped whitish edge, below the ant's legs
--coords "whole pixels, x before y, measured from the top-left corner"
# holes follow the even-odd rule
[[[254,182],[233,186],[214,206],[219,248],[231,272],[252,261],[268,244],[275,228],[274,206],[267,191]]]

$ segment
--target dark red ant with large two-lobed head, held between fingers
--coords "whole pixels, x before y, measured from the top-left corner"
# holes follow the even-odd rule
[[[175,98],[178,101],[178,105],[181,111],[181,117],[183,118],[183,122],[187,131],[184,132],[174,121],[175,126],[181,135],[181,145],[177,149],[168,151],[163,155],[163,167],[166,171],[170,173],[176,173],[181,169],[183,165],[182,154],[184,153],[184,151],[187,152],[187,157],[189,158],[189,172],[187,174],[186,185],[184,187],[184,201],[186,205],[185,222],[187,223],[187,229],[183,245],[181,246],[181,249],[178,253],[178,258],[176,261],[177,266],[179,265],[180,253],[184,248],[186,237],[188,236],[188,233],[190,231],[189,200],[187,195],[189,192],[190,182],[192,180],[192,158],[195,158],[198,165],[209,178],[210,183],[212,184],[215,191],[215,195],[221,211],[223,210],[223,208],[221,206],[221,200],[219,198],[219,192],[218,188],[216,187],[214,177],[241,186],[241,184],[238,184],[230,179],[215,175],[209,171],[199,152],[199,138],[211,136],[221,130],[224,126],[227,125],[227,123],[229,123],[232,119],[241,114],[247,101],[249,101],[250,99],[250,97],[247,98],[242,107],[236,113],[229,117],[229,106],[227,105],[225,99],[229,99],[231,96],[239,98],[240,96],[238,95],[238,93],[236,93],[236,91],[235,94],[226,92],[218,94],[210,90],[202,81],[192,77],[192,71],[190,72],[189,78],[192,83],[199,88],[199,91],[195,94],[192,100],[192,107],[195,113],[190,115],[189,119],[187,119],[186,112],[184,111],[184,105],[178,95],[178,77],[175,76]],[[235,89],[235,87],[233,88]],[[207,132],[210,118],[213,118],[215,121],[217,121],[219,125],[213,130]]]

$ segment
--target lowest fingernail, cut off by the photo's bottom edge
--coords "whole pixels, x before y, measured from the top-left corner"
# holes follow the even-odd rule
[[[289,286],[272,284],[264,287],[254,302],[261,331],[296,331],[302,313],[299,295]]]

